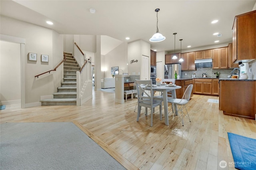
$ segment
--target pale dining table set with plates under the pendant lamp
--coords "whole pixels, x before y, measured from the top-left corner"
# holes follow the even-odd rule
[[[150,87],[148,87],[150,89]],[[180,89],[181,86],[175,85],[175,86],[169,86],[169,85],[160,85],[160,86],[152,86],[153,91],[160,91],[163,94],[162,99],[156,98],[158,100],[162,100],[164,102],[164,120],[165,125],[169,125],[169,119],[168,119],[168,91],[172,91],[172,98],[176,99],[176,89]],[[174,109],[177,112],[177,105],[174,104]]]

